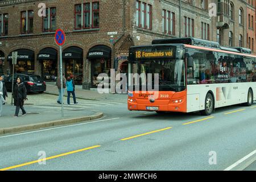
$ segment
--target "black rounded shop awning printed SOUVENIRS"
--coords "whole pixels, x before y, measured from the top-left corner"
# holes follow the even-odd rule
[[[111,48],[108,46],[94,46],[87,53],[87,59],[111,58]]]

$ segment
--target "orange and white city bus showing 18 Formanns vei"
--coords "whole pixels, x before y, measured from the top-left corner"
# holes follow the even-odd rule
[[[218,107],[256,100],[256,56],[250,49],[221,47],[195,38],[153,40],[148,46],[129,50],[129,75],[158,73],[159,96],[134,90],[129,78],[128,109],[200,111],[212,114]],[[139,87],[142,89],[142,86]]]

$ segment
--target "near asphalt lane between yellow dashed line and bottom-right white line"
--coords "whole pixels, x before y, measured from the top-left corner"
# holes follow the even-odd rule
[[[248,113],[247,113],[248,115]],[[224,170],[254,150],[256,126],[253,117],[246,122],[202,122],[131,140],[101,144],[90,152],[81,152],[31,165],[22,170]],[[199,127],[200,126],[200,127]],[[217,164],[209,164],[209,152],[217,155]],[[65,164],[65,165],[63,165]]]

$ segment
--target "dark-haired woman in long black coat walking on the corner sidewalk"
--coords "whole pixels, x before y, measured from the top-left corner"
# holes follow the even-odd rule
[[[27,89],[22,78],[17,78],[16,85],[13,92],[14,105],[16,106],[14,117],[18,117],[19,109],[22,110],[22,116],[26,115],[26,111],[23,107],[24,101],[27,99]]]

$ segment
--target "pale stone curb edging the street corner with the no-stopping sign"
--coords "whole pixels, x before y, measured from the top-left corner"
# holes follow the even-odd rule
[[[104,116],[103,113],[96,113],[93,115],[89,115],[86,117],[79,117],[79,118],[69,118],[69,119],[59,119],[55,121],[48,121],[42,123],[36,123],[31,125],[23,125],[17,127],[7,127],[0,129],[1,134],[10,134],[10,133],[18,133],[21,131],[28,131],[28,130],[36,130],[36,129],[43,129],[46,127],[53,127],[53,126],[60,126],[60,125],[68,125],[72,123],[79,123],[79,122],[89,122],[94,119],[100,119]]]

